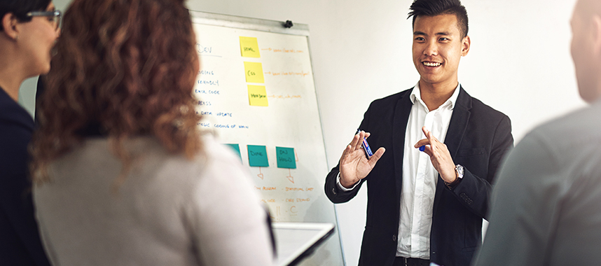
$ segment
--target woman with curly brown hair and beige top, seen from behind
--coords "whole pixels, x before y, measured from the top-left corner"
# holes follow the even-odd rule
[[[237,157],[198,130],[183,0],[75,0],[39,104],[34,202],[55,265],[271,265]]]

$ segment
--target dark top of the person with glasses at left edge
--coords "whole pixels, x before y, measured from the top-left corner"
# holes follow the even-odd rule
[[[0,265],[50,265],[28,178],[33,131],[32,117],[0,87]]]

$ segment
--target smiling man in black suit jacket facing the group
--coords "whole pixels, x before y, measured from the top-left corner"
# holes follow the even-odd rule
[[[365,132],[354,136],[326,177],[326,195],[347,202],[368,181],[359,265],[469,265],[481,244],[492,181],[513,146],[511,122],[457,81],[460,57],[470,45],[461,3],[416,0],[411,10],[420,81],[371,103],[360,126]],[[434,122],[424,118],[429,114]],[[415,139],[416,131],[423,135]],[[364,137],[381,147],[370,159],[361,148]],[[413,231],[419,227],[427,230]]]

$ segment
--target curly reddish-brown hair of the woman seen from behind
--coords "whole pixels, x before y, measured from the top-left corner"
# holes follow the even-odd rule
[[[75,0],[38,104],[32,178],[50,178],[50,162],[90,132],[107,137],[123,162],[123,141],[151,135],[174,154],[201,148],[193,85],[200,64],[184,0]]]

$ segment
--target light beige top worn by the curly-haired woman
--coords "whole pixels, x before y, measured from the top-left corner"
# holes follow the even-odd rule
[[[247,169],[203,137],[193,160],[151,137],[128,141],[139,158],[117,193],[121,170],[106,139],[86,139],[34,187],[48,257],[67,265],[272,265],[267,214]]]

